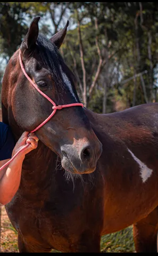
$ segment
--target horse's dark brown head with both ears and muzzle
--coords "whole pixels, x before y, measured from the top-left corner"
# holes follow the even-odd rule
[[[50,39],[39,34],[38,21],[32,20],[20,49],[10,59],[3,77],[2,103],[12,115],[21,131],[32,131],[52,113],[52,103],[41,95],[24,76],[24,70],[38,89],[56,105],[79,103],[76,78],[64,63],[59,52],[69,22]],[[5,86],[4,86],[5,85]],[[41,142],[61,158],[62,167],[72,173],[95,171],[102,153],[84,108],[73,106],[56,110],[36,134]]]

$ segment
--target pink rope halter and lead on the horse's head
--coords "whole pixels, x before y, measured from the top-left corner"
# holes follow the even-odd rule
[[[49,115],[44,122],[42,122],[40,125],[38,125],[34,130],[32,130],[31,132],[35,132],[37,131],[41,126],[43,126],[45,123],[47,123],[49,121],[49,119],[52,118],[52,116],[54,116],[56,110],[61,110],[62,108],[68,108],[68,107],[76,107],[76,106],[81,106],[84,107],[84,105],[82,103],[71,103],[71,104],[66,104],[66,105],[59,105],[56,106],[55,102],[53,100],[51,100],[45,93],[43,93],[42,91],[39,90],[38,86],[31,80],[31,78],[27,75],[26,71],[24,70],[24,66],[22,63],[22,58],[21,58],[21,51],[19,51],[19,60],[20,60],[20,66],[21,69],[23,71],[23,74],[26,76],[26,78],[29,80],[29,82],[35,87],[35,89],[41,94],[43,95],[48,101],[50,101],[53,105],[52,109],[53,112],[51,115]],[[30,143],[27,143],[23,148],[21,148],[18,152],[16,152],[16,154],[7,162],[5,163],[1,168],[0,171],[4,169],[4,167],[6,167],[7,165],[9,165],[13,159],[25,148],[27,148],[29,146]]]

